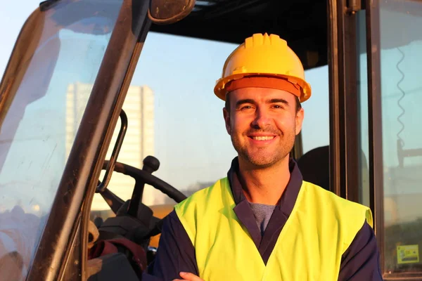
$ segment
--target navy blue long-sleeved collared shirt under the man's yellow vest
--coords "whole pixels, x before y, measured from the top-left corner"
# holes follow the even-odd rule
[[[238,162],[237,159],[234,159],[227,174],[236,202],[234,212],[245,228],[248,229],[255,246],[260,251],[262,260],[266,264],[279,234],[293,210],[302,185],[302,175],[297,164],[293,160],[290,161],[290,181],[279,204],[274,209],[264,235],[261,235],[250,204],[243,195],[237,171]],[[143,280],[167,281],[178,279],[181,271],[198,275],[195,249],[175,211],[172,211],[165,218],[157,255],[148,271],[149,274],[143,275]],[[338,280],[383,280],[379,266],[376,237],[368,223],[363,224],[352,244],[343,254]]]

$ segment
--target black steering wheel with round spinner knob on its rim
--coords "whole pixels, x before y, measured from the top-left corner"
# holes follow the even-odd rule
[[[108,161],[105,161],[103,164],[103,169],[107,169],[107,166]],[[120,162],[115,163],[114,171],[131,176],[135,180],[134,191],[132,192],[132,198],[129,201],[129,207],[127,209],[127,214],[130,216],[136,217],[138,214],[139,208],[142,205],[142,196],[145,184],[152,185],[154,188],[160,190],[177,203],[186,199],[186,196],[172,185],[152,175],[154,171],[158,170],[159,166],[160,162],[153,156],[147,156],[145,159],[143,159],[142,169],[137,169],[134,166],[129,166]],[[122,199],[117,197],[117,195],[115,195],[107,188],[98,187],[96,192],[103,196],[115,214],[117,214],[119,209],[121,209],[122,205],[124,204]]]

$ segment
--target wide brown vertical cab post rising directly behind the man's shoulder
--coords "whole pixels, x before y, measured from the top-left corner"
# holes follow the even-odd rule
[[[359,202],[358,1],[328,0],[330,189]]]

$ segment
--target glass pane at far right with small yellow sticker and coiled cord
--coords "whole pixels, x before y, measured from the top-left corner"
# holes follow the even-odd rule
[[[385,271],[422,270],[422,4],[380,1]]]

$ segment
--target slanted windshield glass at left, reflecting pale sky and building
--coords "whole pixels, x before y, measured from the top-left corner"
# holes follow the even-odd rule
[[[60,1],[33,13],[15,45],[0,86],[6,280],[20,280],[30,266],[121,5]]]

